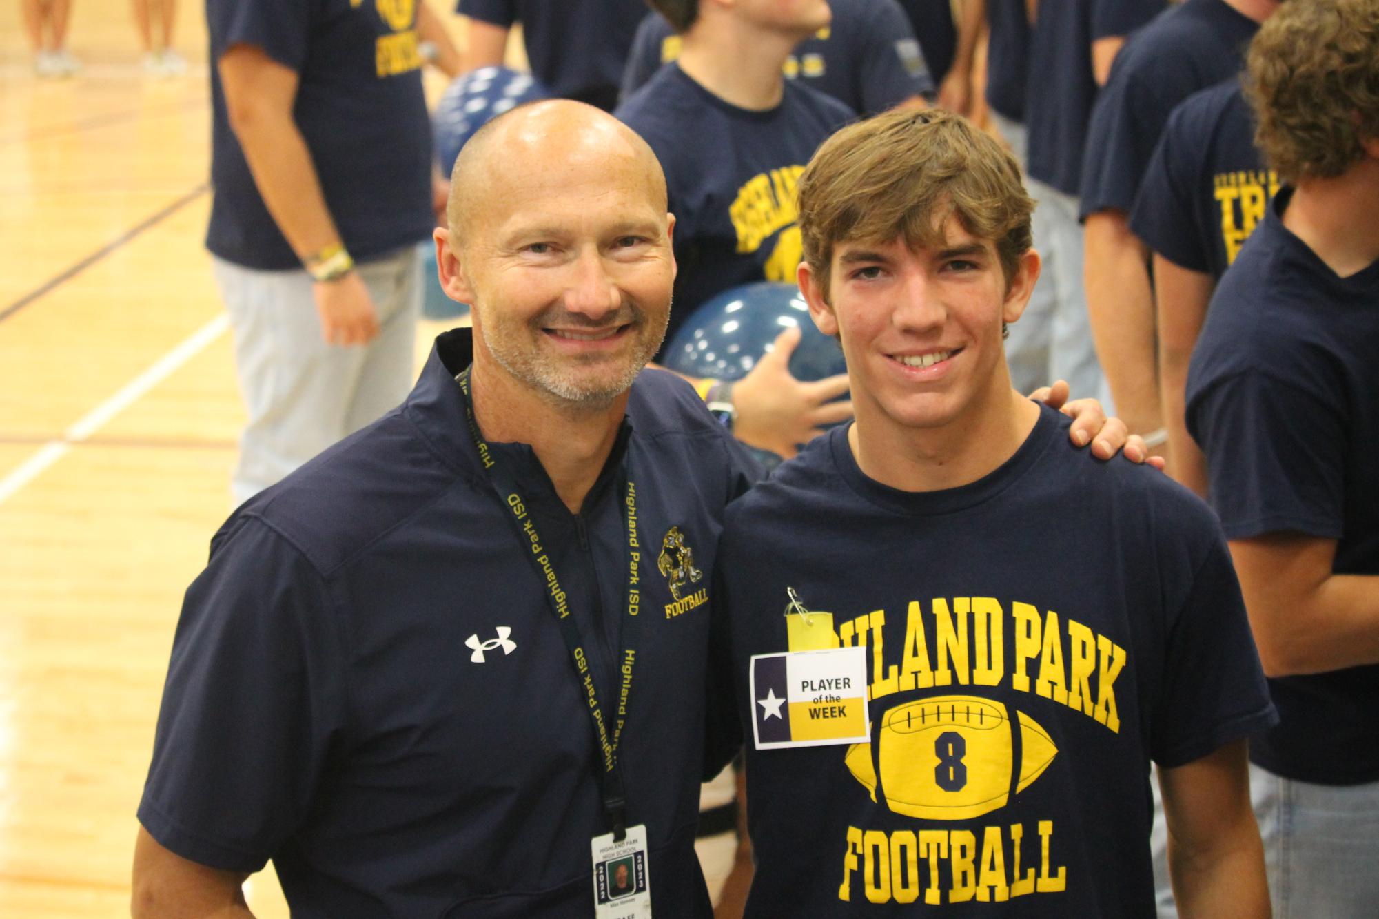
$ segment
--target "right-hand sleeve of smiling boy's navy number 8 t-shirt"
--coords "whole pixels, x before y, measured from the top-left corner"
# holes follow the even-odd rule
[[[1200,506],[1198,506],[1200,507]],[[1245,602],[1220,530],[1205,507],[1193,526],[1214,530],[1190,579],[1186,599],[1168,621],[1164,678],[1150,730],[1150,756],[1182,766],[1277,723]],[[1182,557],[1186,561],[1186,555]]]

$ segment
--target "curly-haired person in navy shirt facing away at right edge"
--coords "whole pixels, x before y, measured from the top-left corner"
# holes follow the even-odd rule
[[[1288,0],[1247,96],[1284,182],[1187,379],[1281,721],[1249,743],[1282,916],[1379,901],[1379,3]]]

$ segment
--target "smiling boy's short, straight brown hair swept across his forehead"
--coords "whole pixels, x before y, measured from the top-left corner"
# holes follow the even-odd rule
[[[1005,281],[1030,249],[1034,201],[1015,157],[957,114],[892,110],[823,142],[800,176],[804,260],[827,296],[833,247],[843,241],[943,245],[949,214],[996,242]]]

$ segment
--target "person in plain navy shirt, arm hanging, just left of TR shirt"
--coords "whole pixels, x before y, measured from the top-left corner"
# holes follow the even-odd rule
[[[1111,397],[1156,449],[1167,441],[1154,355],[1149,251],[1129,211],[1169,113],[1240,72],[1245,45],[1277,0],[1185,0],[1116,56],[1087,130],[1081,218],[1087,306]]]

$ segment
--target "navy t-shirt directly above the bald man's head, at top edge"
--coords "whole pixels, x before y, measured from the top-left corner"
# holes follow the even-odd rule
[[[521,22],[531,72],[557,96],[611,112],[632,36],[647,12],[641,0],[459,0],[474,19]]]

